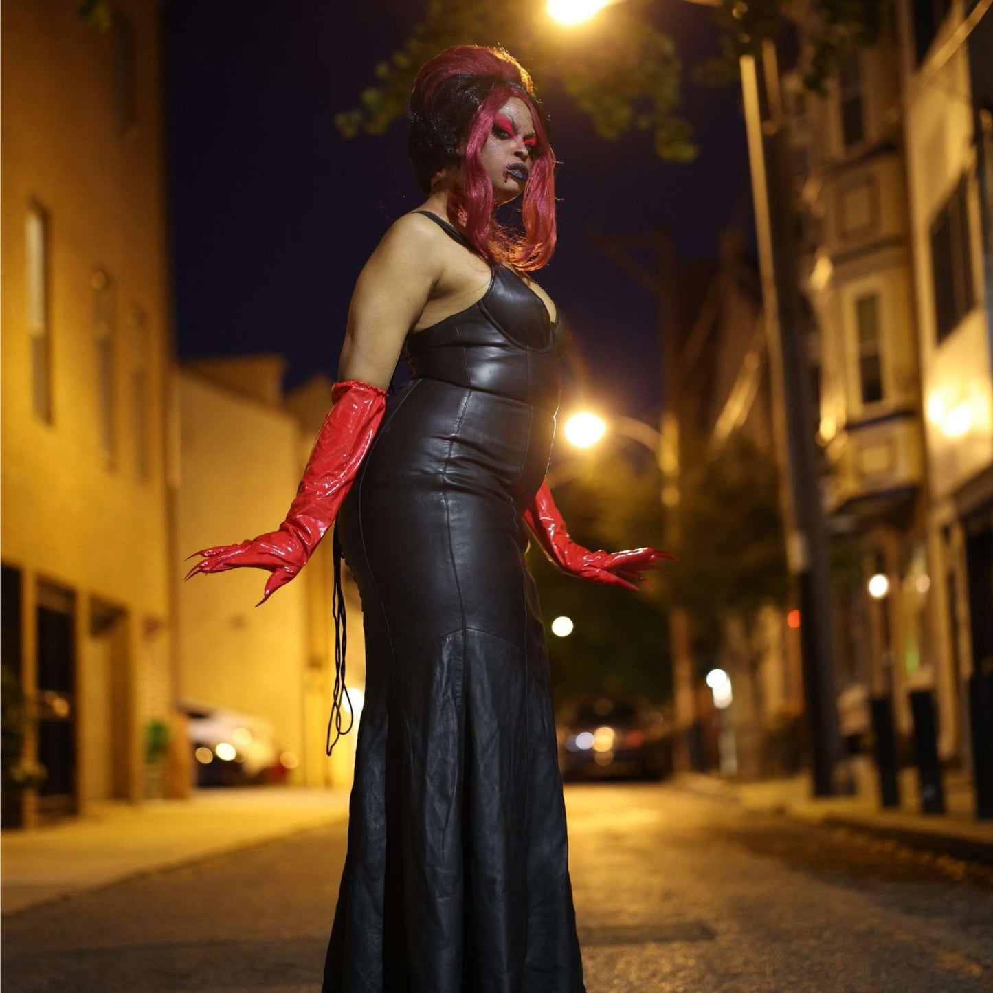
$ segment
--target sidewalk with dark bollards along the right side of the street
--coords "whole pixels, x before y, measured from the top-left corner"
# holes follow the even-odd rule
[[[944,814],[920,812],[917,774],[901,774],[901,807],[884,810],[875,795],[814,798],[809,776],[788,780],[736,782],[701,773],[677,773],[677,788],[740,803],[747,809],[855,830],[902,841],[915,848],[993,866],[993,821],[976,820],[967,780],[948,776]]]

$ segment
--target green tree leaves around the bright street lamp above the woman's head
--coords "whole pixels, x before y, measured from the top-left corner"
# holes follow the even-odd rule
[[[428,59],[451,45],[501,45],[531,72],[539,91],[549,83],[561,87],[600,137],[647,131],[659,158],[689,161],[696,147],[679,111],[682,62],[672,39],[651,23],[657,2],[623,0],[566,29],[551,21],[542,0],[429,0],[423,19],[389,59],[376,63],[375,81],[335,123],[347,138],[381,134],[403,114],[414,75]],[[695,67],[697,81],[736,81],[739,56],[779,38],[792,6],[789,0],[723,0],[714,13],[722,55]],[[886,7],[879,0],[810,0],[804,8],[807,85],[822,90],[851,51],[871,44]]]

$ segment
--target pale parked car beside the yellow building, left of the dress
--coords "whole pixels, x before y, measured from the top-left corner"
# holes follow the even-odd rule
[[[244,786],[285,776],[287,756],[281,754],[268,721],[190,701],[183,710],[198,786]]]

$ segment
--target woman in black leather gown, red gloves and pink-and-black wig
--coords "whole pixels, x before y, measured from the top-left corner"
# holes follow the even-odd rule
[[[581,993],[525,524],[599,582],[638,589],[672,556],[576,545],[543,483],[561,325],[526,273],[554,248],[555,157],[527,72],[500,50],[449,49],[418,73],[409,118],[427,199],[358,277],[287,520],[197,553],[190,575],[267,569],[264,602],[338,516],[366,682],[325,993]],[[521,193],[513,236],[495,212]],[[388,395],[401,351],[412,378]]]

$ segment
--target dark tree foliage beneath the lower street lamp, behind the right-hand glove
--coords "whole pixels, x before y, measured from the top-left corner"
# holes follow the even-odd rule
[[[627,450],[605,446],[587,471],[555,487],[569,534],[587,548],[666,548],[657,468],[639,466]],[[671,693],[668,614],[694,618],[694,648],[713,658],[729,623],[750,630],[767,603],[782,606],[788,587],[773,459],[741,434],[717,455],[684,467],[677,561],[651,573],[647,591],[565,576],[532,542],[528,562],[538,583],[546,628],[572,618],[568,638],[548,635],[559,701],[575,692],[614,686],[655,700]]]

